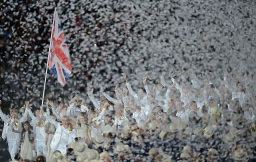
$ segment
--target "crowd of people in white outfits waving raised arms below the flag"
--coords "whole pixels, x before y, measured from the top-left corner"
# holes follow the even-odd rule
[[[223,80],[190,86],[181,73],[160,76],[159,85],[134,90],[125,86],[113,94],[68,103],[46,99],[46,109],[31,111],[28,101],[5,115],[2,138],[12,161],[21,162],[247,162],[255,160],[255,96],[251,78],[240,81],[224,72]],[[21,116],[20,116],[21,115]]]

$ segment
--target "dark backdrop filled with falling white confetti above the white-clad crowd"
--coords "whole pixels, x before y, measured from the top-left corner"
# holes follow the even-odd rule
[[[46,94],[59,99],[94,87],[111,92],[129,75],[159,84],[162,71],[181,71],[204,81],[228,69],[255,69],[255,1],[187,0],[1,0],[0,98],[5,106],[22,101],[39,106],[54,7],[71,57],[72,74],[61,87],[49,72]],[[235,71],[236,70],[236,71]],[[61,92],[61,93],[58,93]],[[69,97],[69,96],[68,96]],[[70,100],[71,98],[69,98]]]

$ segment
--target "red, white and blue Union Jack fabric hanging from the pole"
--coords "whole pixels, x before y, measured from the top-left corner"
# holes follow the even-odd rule
[[[71,74],[69,51],[57,11],[54,11],[49,47],[49,70],[57,76],[57,81],[64,86]]]

